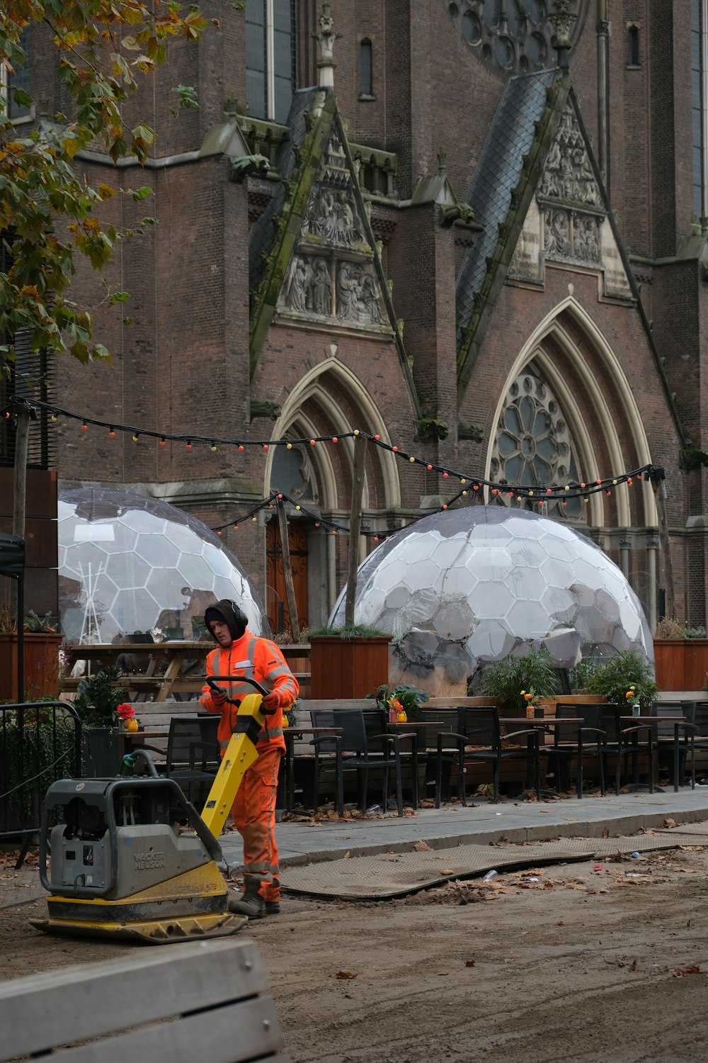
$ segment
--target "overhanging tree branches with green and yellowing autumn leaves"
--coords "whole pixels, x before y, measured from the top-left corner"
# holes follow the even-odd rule
[[[142,122],[127,128],[122,105],[165,63],[171,38],[196,43],[208,26],[200,9],[172,0],[10,0],[0,6],[0,64],[10,86],[0,96],[0,238],[6,266],[0,268],[0,340],[6,338],[0,342],[0,371],[7,372],[14,360],[19,330],[27,331],[34,351],[68,351],[83,362],[109,360],[93,335],[90,308],[72,302],[68,289],[81,256],[101,271],[127,235],[100,217],[101,204],[121,190],[106,182],[93,185],[76,161],[98,142],[114,163],[133,156],[144,164],[155,131]],[[35,102],[13,84],[29,62],[22,47],[27,28],[51,32],[72,114],[44,118],[23,134],[10,105]],[[197,106],[190,86],[174,91],[180,106]],[[143,187],[124,195],[140,201],[150,193]],[[111,301],[124,298],[115,293]]]

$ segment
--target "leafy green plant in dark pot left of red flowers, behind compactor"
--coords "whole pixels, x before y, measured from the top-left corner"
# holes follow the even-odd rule
[[[85,676],[79,684],[74,708],[82,721],[84,760],[89,778],[115,775],[120,760],[119,709],[128,703],[125,690],[115,686],[120,680],[118,668],[104,668]],[[133,716],[135,710],[133,710]]]

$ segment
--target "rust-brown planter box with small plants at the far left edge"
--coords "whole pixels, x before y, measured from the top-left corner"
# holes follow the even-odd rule
[[[62,636],[51,613],[28,610],[22,624],[23,689],[17,687],[17,623],[8,602],[0,605],[0,701],[20,702],[57,697]]]

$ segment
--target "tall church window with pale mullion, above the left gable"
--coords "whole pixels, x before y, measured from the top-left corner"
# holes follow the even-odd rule
[[[284,123],[295,85],[295,0],[246,0],[246,106]]]

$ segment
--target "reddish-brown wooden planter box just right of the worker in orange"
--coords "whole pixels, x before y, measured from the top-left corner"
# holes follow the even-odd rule
[[[310,696],[366,697],[388,682],[390,635],[340,639],[316,635],[310,640]]]

